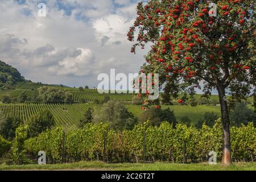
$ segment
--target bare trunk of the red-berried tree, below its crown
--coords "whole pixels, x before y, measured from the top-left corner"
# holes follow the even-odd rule
[[[231,159],[231,142],[230,142],[230,119],[228,111],[228,103],[225,98],[225,88],[222,85],[218,86],[218,96],[220,97],[221,105],[221,121],[223,130],[223,144],[222,144],[222,160],[221,164],[229,166],[232,164]]]

